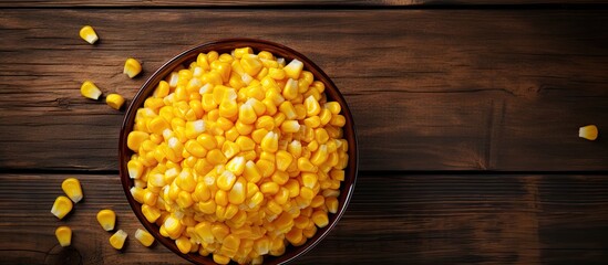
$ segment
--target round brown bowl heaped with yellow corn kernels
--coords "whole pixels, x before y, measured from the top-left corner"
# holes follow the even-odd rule
[[[357,140],[331,80],[280,44],[189,49],[142,86],[120,174],[151,234],[196,264],[282,264],[317,245],[352,197]]]

